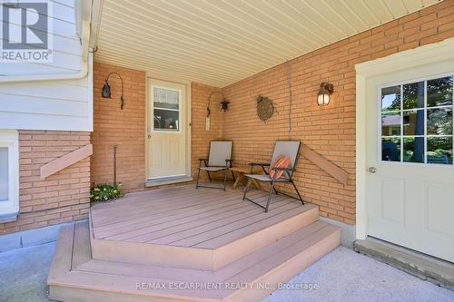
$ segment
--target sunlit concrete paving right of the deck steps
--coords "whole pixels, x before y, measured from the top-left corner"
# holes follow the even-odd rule
[[[454,301],[454,292],[449,289],[343,247],[334,249],[289,284],[308,284],[317,289],[278,290],[263,302]]]

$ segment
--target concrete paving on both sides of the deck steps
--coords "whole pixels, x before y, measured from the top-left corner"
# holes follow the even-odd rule
[[[50,301],[46,297],[45,281],[54,247],[54,243],[48,243],[0,253],[0,301]],[[454,292],[349,248],[336,248],[285,287],[264,302],[454,301]]]

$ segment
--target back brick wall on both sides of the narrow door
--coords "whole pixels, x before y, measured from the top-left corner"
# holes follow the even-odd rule
[[[112,99],[101,97],[105,78],[111,72],[120,73],[124,80],[123,111],[120,109],[120,80],[112,75],[109,83]],[[94,63],[94,132],[92,143],[92,182],[114,181],[114,145],[117,145],[117,181],[125,192],[144,190],[146,75],[106,63]],[[209,141],[221,138],[222,114],[219,96],[212,98],[212,130],[205,131],[208,97],[219,88],[193,83],[192,97],[192,174],[197,159],[207,156]]]

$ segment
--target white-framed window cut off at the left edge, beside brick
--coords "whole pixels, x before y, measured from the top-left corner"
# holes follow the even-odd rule
[[[0,216],[19,211],[18,133],[0,130]]]

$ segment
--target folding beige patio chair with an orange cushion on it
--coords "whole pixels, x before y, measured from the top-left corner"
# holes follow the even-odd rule
[[[296,188],[296,185],[293,181],[293,173],[296,169],[296,164],[298,163],[298,158],[300,156],[300,148],[301,148],[301,141],[276,141],[276,145],[274,146],[274,151],[272,152],[272,158],[270,163],[261,163],[261,162],[251,162],[249,165],[251,166],[251,173],[254,168],[254,166],[261,166],[262,170],[265,172],[265,174],[245,174],[244,176],[248,178],[248,182],[246,184],[246,187],[244,188],[244,193],[242,196],[242,200],[249,200],[252,203],[255,203],[259,207],[265,209],[265,212],[268,212],[268,208],[270,207],[270,202],[271,202],[271,195],[272,191],[274,191],[276,194],[281,194],[281,195],[286,195],[290,196],[281,192],[278,192],[274,185],[276,183],[291,183],[293,188],[296,190],[296,193],[298,194],[298,199],[300,200],[302,204],[304,204],[304,201],[301,198],[300,192]],[[270,177],[270,167],[271,164],[276,161],[276,159],[281,156],[288,156],[290,158],[290,164],[287,168],[272,168],[273,170],[283,170],[284,173],[280,178],[276,178],[276,173],[274,173],[274,177]],[[265,169],[265,167],[268,167]],[[262,204],[250,200],[246,197],[246,194],[248,192],[249,186],[251,185],[251,180],[258,180],[262,182],[268,182],[271,184],[270,188],[270,193],[268,194],[268,200],[266,202],[266,206],[262,206]],[[294,198],[290,196],[291,198]]]

